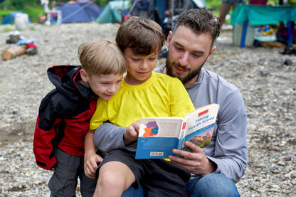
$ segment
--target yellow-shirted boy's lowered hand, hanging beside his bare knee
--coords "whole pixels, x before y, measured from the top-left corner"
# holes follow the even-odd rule
[[[84,155],[84,171],[85,175],[90,179],[95,178],[95,171],[97,170],[97,163],[102,161],[102,157],[96,154],[95,151],[89,151]]]

